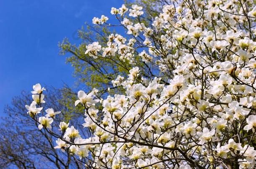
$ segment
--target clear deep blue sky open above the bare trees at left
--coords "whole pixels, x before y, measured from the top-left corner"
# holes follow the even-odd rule
[[[67,37],[94,16],[110,16],[122,0],[0,0],[0,116],[13,96],[32,85],[73,85],[73,68],[58,55]]]

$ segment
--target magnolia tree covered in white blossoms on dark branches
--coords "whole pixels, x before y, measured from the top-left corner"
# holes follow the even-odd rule
[[[126,34],[86,45],[85,54],[128,73],[111,81],[124,94],[78,91],[74,104],[84,108],[81,125],[90,136],[81,137],[71,123],[52,128],[59,112],[43,110],[40,84],[31,92],[38,101],[26,105],[29,116],[56,138],[55,149],[89,168],[254,168],[253,1],[173,1],[150,22],[144,12],[122,5],[111,9],[117,24],[93,18]]]

